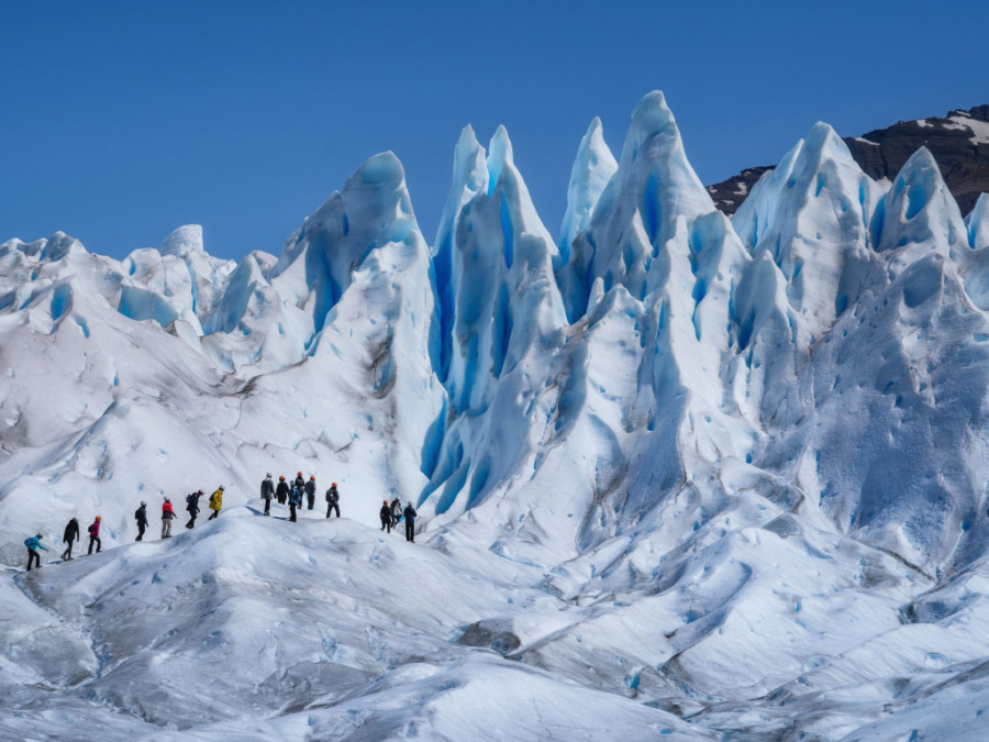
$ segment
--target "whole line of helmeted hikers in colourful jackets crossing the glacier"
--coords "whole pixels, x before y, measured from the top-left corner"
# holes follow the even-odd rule
[[[214,518],[220,516],[220,509],[223,507],[223,485],[220,485],[216,490],[210,495],[209,508],[212,510],[212,514],[209,517],[209,520],[213,520]],[[296,509],[303,507],[303,503],[309,506],[309,509],[312,510],[315,507],[315,492],[316,492],[316,484],[315,484],[315,475],[310,476],[307,481],[302,477],[302,473],[299,472],[292,481],[291,486],[286,481],[285,477],[278,477],[278,485],[275,485],[275,481],[271,479],[271,474],[267,474],[265,476],[264,481],[262,481],[260,486],[260,496],[265,501],[265,513],[266,516],[271,514],[271,500],[277,499],[279,505],[289,506],[289,520],[296,522]],[[189,521],[186,523],[186,528],[191,529],[196,525],[196,518],[199,516],[200,507],[199,507],[199,498],[204,497],[202,490],[197,490],[195,492],[190,492],[186,496],[186,512],[189,513]],[[325,494],[326,499],[326,518],[330,518],[331,513],[335,512],[336,517],[340,518],[340,491],[336,489],[336,483],[334,481],[330,485],[330,489],[326,490]],[[388,501],[386,500],[386,503]],[[398,498],[395,500],[396,503],[399,502]],[[398,517],[395,520],[395,523],[398,522],[401,517],[401,506],[397,505],[398,508]],[[412,506],[405,509],[405,538],[409,541],[412,541],[411,531],[408,523],[413,522],[415,518],[415,510],[412,510],[412,517],[409,518],[409,510]],[[175,508],[171,505],[171,499],[165,497],[165,501],[162,503],[162,538],[170,539],[171,538],[171,521],[174,521],[178,516],[175,512]],[[137,522],[137,538],[135,541],[142,541],[144,539],[144,532],[148,527],[147,520],[147,502],[144,500],[141,501],[141,507],[134,511],[134,520]],[[102,518],[97,516],[93,519],[93,522],[89,525],[89,554],[92,554],[93,546],[96,547],[97,553],[99,554],[102,549],[102,542],[100,541],[100,523]],[[382,518],[384,523],[384,518]],[[391,525],[395,523],[391,522],[389,517],[389,531],[391,530]],[[384,529],[384,525],[382,525]],[[73,560],[73,546],[80,540],[79,538],[79,521],[76,518],[69,520],[68,524],[65,527],[65,532],[62,535],[63,542],[66,544],[66,550],[62,554],[62,560],[64,562],[70,562]],[[38,550],[48,551],[47,546],[45,546],[42,541],[44,536],[41,533],[37,533],[24,541],[24,545],[27,547],[27,572],[31,572],[32,567],[41,566],[41,554]]]

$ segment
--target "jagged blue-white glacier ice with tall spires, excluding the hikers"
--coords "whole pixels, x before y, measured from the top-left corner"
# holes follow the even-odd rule
[[[0,738],[986,739],[989,197],[816,124],[729,220],[655,92],[568,199],[467,128],[432,246],[390,153],[277,255],[0,245]]]

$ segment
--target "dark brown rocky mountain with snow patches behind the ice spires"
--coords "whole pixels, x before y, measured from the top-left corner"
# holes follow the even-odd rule
[[[943,119],[900,121],[862,136],[843,137],[859,167],[875,180],[892,180],[920,147],[927,147],[963,214],[989,192],[989,106],[949,111]],[[752,187],[773,166],[749,167],[708,192],[721,211],[735,213]]]

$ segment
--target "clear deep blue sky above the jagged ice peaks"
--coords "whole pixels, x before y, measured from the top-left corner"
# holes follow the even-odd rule
[[[577,144],[660,89],[705,184],[989,102],[989,2],[0,0],[0,242],[122,257],[182,224],[240,258],[393,151],[429,242],[470,123],[508,128],[551,233]]]

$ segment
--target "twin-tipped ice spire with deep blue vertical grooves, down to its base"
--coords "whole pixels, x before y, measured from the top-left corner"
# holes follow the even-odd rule
[[[566,325],[553,272],[558,251],[503,126],[484,169],[482,153],[473,132],[462,135],[436,237],[437,261],[449,254],[443,342],[453,422],[423,497],[430,499],[424,507],[449,517],[484,499],[532,455],[548,419],[541,400],[546,389],[534,379],[545,372],[546,354],[564,344]]]

